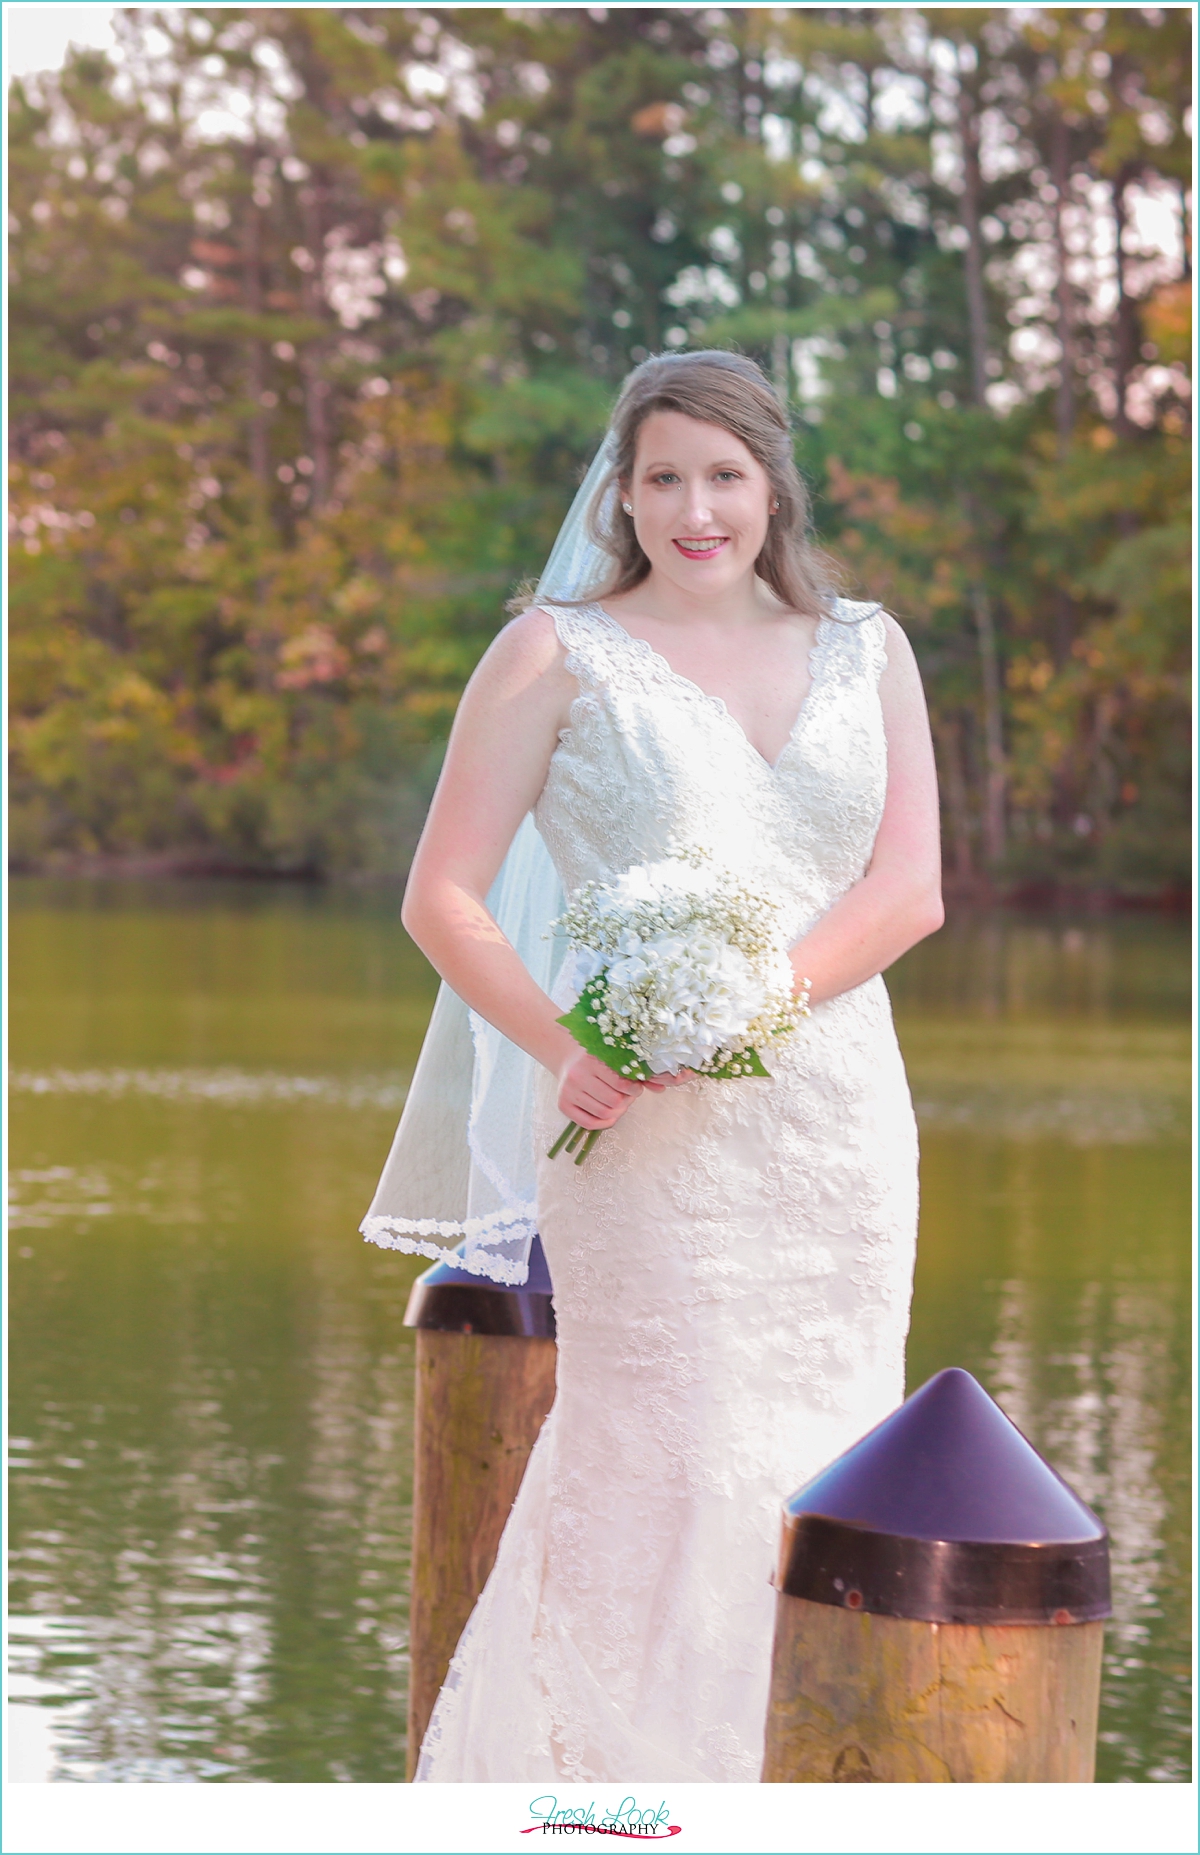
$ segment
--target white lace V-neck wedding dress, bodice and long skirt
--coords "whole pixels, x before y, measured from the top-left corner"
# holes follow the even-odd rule
[[[579,681],[536,807],[571,892],[703,844],[792,939],[864,872],[887,787],[883,620],[840,603],[770,766],[601,607],[551,607]],[[916,1130],[881,978],[772,1080],[645,1094],[543,1159],[558,1395],[417,1781],[755,1783],[781,1503],[903,1397]],[[543,1076],[540,1148],[558,1133]]]

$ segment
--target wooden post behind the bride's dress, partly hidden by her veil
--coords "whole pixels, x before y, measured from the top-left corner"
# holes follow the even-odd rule
[[[417,1330],[412,1781],[438,1690],[555,1402],[555,1310],[542,1239],[534,1237],[523,1287],[434,1263],[412,1286],[404,1324]]]

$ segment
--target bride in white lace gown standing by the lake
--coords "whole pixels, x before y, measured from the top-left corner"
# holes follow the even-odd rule
[[[916,1132],[879,974],[942,922],[933,753],[903,633],[827,592],[751,362],[644,362],[584,490],[575,595],[475,672],[404,898],[493,1052],[534,1059],[558,1326],[415,1775],[753,1783],[781,1503],[903,1397]],[[770,1078],[632,1081],[571,1039],[569,972],[551,998],[488,907],[529,812],[566,894],[671,844],[770,885],[812,1002]],[[564,1117],[606,1130],[581,1167],[545,1158]],[[438,1254],[519,1221],[364,1230]]]

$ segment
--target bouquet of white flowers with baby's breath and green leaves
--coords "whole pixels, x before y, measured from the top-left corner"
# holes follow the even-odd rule
[[[558,1022],[618,1076],[766,1076],[759,1046],[809,1017],[809,979],[798,996],[779,903],[703,850],[584,883],[553,929],[566,933],[582,979]],[[568,1120],[549,1158],[579,1146],[582,1165],[601,1132]]]

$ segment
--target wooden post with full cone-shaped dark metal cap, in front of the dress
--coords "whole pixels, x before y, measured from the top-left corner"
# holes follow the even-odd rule
[[[783,1510],[764,1785],[1091,1785],[1109,1542],[950,1367]]]

